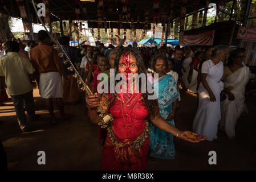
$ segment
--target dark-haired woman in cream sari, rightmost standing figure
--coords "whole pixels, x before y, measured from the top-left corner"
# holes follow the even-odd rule
[[[245,86],[250,78],[250,69],[243,63],[245,49],[237,48],[231,52],[224,67],[224,92],[226,99],[221,102],[220,130],[225,130],[230,139],[235,137],[235,125],[240,115],[247,110],[245,104]]]

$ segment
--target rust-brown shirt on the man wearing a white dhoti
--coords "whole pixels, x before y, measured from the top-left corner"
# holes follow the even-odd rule
[[[39,43],[30,51],[30,59],[38,73],[59,72],[65,75],[58,51],[46,44]]]

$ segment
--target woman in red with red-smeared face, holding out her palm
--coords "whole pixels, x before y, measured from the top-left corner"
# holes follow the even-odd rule
[[[189,142],[200,142],[205,137],[190,131],[181,131],[170,125],[161,117],[157,100],[151,100],[152,94],[141,93],[147,88],[149,81],[140,81],[135,88],[135,73],[147,75],[140,52],[132,47],[120,48],[115,60],[115,78],[117,73],[123,73],[125,83],[132,82],[132,93],[127,93],[127,85],[120,86],[115,82],[114,94],[102,94],[101,97],[87,96],[86,102],[92,123],[99,123],[100,118],[95,107],[101,106],[105,113],[113,115],[113,121],[108,128],[108,135],[102,151],[101,170],[145,170],[150,139],[148,138],[149,123],[147,118],[160,129]],[[128,74],[129,73],[129,74]],[[118,85],[117,85],[118,84]],[[139,92],[136,92],[139,90]],[[194,139],[188,135],[195,135]]]

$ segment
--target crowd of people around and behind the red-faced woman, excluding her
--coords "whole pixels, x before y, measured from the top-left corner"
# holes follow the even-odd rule
[[[52,123],[71,118],[72,115],[64,111],[64,105],[74,105],[80,101],[79,84],[74,77],[75,71],[70,69],[71,64],[64,63],[66,58],[61,54],[60,48],[54,48],[46,31],[39,31],[38,39],[39,44],[29,41],[25,46],[21,40],[10,40],[0,45],[0,104],[4,106],[4,102],[8,100],[7,87],[22,131],[30,131],[25,106],[32,121],[39,117],[35,114],[32,82],[36,82],[40,96],[46,100]],[[104,44],[92,47],[83,43],[78,47],[71,47],[67,36],[58,40],[83,81],[96,93],[100,82],[97,76],[100,73],[110,76],[109,69],[115,68],[119,48],[111,44],[108,47]],[[205,135],[208,140],[218,139],[218,129],[225,130],[230,139],[235,137],[237,119],[247,112],[245,86],[250,78],[250,71],[243,63],[245,49],[230,50],[226,46],[217,45],[135,49],[139,50],[148,72],[161,75],[158,101],[163,118],[174,126],[176,110],[180,109],[178,107],[182,102],[180,92],[188,91],[198,95],[194,132]],[[161,98],[166,97],[169,102],[162,104]],[[54,114],[54,100],[60,110],[59,118]],[[156,129],[153,124],[150,128],[149,154],[173,159],[173,135]],[[99,131],[100,138],[104,139],[105,135]]]

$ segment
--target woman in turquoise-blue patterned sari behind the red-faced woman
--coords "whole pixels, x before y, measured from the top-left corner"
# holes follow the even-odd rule
[[[166,75],[168,63],[165,56],[157,55],[153,60],[153,69],[159,73],[155,77],[154,90],[159,102],[161,117],[174,126],[174,115],[177,106],[178,89],[172,75]],[[149,127],[151,139],[149,155],[161,159],[174,159],[175,149],[173,135],[159,129],[153,123]]]

